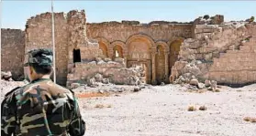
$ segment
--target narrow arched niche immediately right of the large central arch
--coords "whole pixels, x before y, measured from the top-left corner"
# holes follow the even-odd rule
[[[156,54],[156,80],[158,84],[165,80],[165,57],[164,48],[159,45]]]

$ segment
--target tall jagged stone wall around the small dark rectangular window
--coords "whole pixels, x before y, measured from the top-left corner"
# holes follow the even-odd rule
[[[102,57],[97,41],[86,36],[86,16],[84,10],[72,10],[67,14],[69,35],[69,64],[73,65],[73,49],[80,49],[81,61]]]

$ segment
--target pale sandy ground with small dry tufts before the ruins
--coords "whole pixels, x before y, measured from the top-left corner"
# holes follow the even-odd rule
[[[2,92],[13,87],[1,82]],[[185,90],[165,85],[79,99],[85,136],[256,136],[256,123],[243,120],[256,117],[256,84],[220,92]],[[187,111],[190,105],[197,110]],[[207,110],[198,110],[203,105]]]

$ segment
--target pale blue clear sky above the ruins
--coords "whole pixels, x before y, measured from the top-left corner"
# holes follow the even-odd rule
[[[2,27],[25,29],[30,16],[50,12],[51,2],[2,1]],[[224,15],[225,21],[245,20],[256,16],[256,1],[53,1],[54,12],[85,10],[87,22],[136,20],[194,21],[198,16]]]

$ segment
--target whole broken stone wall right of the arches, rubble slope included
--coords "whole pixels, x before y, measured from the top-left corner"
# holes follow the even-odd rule
[[[255,58],[253,40],[250,40],[249,46],[248,43],[242,42],[251,36],[251,29],[251,26],[244,23],[196,25],[195,38],[184,40],[179,61],[172,68],[170,80],[182,79],[189,82],[194,76],[201,81],[215,79],[222,84],[245,84],[255,81],[255,78],[239,78],[246,77],[246,73],[239,73],[239,76],[235,74],[237,71],[246,70],[248,74],[253,75],[256,70],[254,63],[248,62]],[[250,66],[247,67],[249,63]]]

